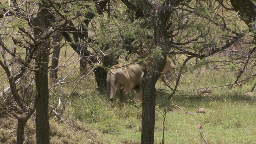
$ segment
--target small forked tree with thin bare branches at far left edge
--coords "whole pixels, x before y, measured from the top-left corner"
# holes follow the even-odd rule
[[[7,50],[9,54],[12,54],[12,56],[15,56],[15,52],[9,51],[11,49],[6,46],[2,38],[0,38],[0,45],[2,46],[2,60],[0,60],[0,65],[4,69],[10,84],[10,86],[7,87],[6,91],[0,94],[0,97],[6,97],[6,99],[8,99],[8,89],[10,88],[16,104],[14,104],[12,108],[11,106],[8,106],[11,108],[8,111],[18,120],[16,142],[17,144],[23,144],[24,127],[36,108],[36,103],[30,104],[31,102],[33,102],[35,94],[34,88],[32,86],[34,80],[26,77],[30,76],[29,72],[26,72],[26,66],[20,67],[18,72],[12,70],[11,66],[13,66],[14,64],[11,64],[9,62],[9,59],[6,57],[7,54],[5,52]],[[30,61],[30,58],[26,59],[26,62]],[[26,85],[27,80],[31,80],[31,83],[29,85]],[[24,92],[21,92],[21,88]]]

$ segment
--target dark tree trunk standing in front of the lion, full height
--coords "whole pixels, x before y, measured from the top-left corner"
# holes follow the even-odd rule
[[[165,0],[163,7],[159,6],[156,10],[154,20],[154,37],[156,48],[162,48],[166,52],[166,23],[170,14],[173,12],[171,6],[177,6],[181,0]],[[156,91],[155,84],[160,73],[164,69],[166,62],[166,53],[156,56],[148,72],[144,72],[142,82],[142,134],[141,144],[154,144],[154,126],[155,126],[155,106]]]

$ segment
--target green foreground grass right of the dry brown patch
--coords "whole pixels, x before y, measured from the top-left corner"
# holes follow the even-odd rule
[[[103,98],[104,99],[104,98]],[[99,99],[98,99],[99,100]],[[102,100],[100,100],[102,101]],[[168,102],[174,109],[167,112],[165,121],[166,144],[201,144],[202,136],[210,144],[255,143],[255,103],[252,98],[231,97],[228,100],[215,98],[199,99],[194,96],[174,97]],[[167,103],[166,103],[167,104]],[[84,122],[91,131],[97,132],[103,144],[140,143],[141,106],[126,105],[122,108],[110,108],[108,101],[100,106],[85,109],[94,111],[95,119],[87,116]],[[161,106],[157,107],[155,124],[155,143],[160,143],[163,134]],[[207,110],[204,114],[190,115],[186,111],[196,112],[198,107]],[[74,112],[75,114],[76,112]],[[81,115],[86,112],[81,112]],[[92,112],[90,112],[92,116]],[[89,115],[90,115],[89,114]],[[70,115],[69,115],[70,116]],[[201,124],[202,130],[196,126]]]

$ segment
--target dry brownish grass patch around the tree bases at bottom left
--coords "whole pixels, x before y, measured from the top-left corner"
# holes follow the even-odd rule
[[[34,114],[35,115],[35,114]],[[24,130],[24,144],[36,144],[35,116],[28,120]],[[96,132],[82,122],[60,122],[50,118],[50,144],[102,144]],[[17,120],[0,114],[0,144],[16,144]]]

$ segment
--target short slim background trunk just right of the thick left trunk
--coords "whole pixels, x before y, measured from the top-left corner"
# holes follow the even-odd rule
[[[59,65],[59,57],[60,57],[60,41],[62,40],[61,34],[59,32],[56,33],[55,36],[52,37],[52,41],[56,42],[53,53],[52,53],[52,66],[50,71],[50,78],[56,80],[58,78],[58,65]]]

